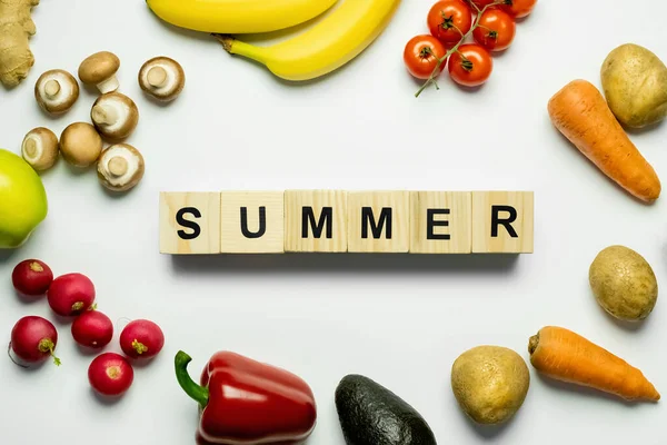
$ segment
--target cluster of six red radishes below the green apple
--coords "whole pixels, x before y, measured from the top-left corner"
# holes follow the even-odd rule
[[[113,323],[97,309],[94,285],[87,276],[72,273],[53,278],[47,264],[26,259],[14,267],[11,278],[19,294],[28,297],[46,295],[53,313],[72,319],[72,337],[80,346],[101,350],[111,343]],[[130,388],[135,379],[130,359],[155,357],[165,346],[165,335],[153,322],[136,319],[123,327],[119,343],[126,356],[102,353],[88,367],[90,385],[104,396],[120,396]],[[26,367],[49,357],[60,365],[60,358],[54,354],[57,344],[56,326],[43,317],[30,315],[17,322],[9,346],[18,358],[14,363]]]

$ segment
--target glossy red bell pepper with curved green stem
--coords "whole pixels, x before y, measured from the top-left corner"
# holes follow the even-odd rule
[[[230,352],[216,353],[200,385],[188,374],[192,358],[176,355],[176,377],[199,403],[201,445],[298,445],[312,433],[317,408],[300,377]]]

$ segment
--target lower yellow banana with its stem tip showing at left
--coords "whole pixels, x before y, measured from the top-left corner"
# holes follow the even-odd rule
[[[327,75],[364,51],[385,30],[400,0],[342,0],[312,28],[269,47],[257,47],[216,33],[222,47],[265,65],[291,81]]]

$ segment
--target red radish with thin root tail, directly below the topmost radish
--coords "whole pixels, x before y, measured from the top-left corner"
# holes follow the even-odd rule
[[[60,366],[60,358],[53,354],[57,344],[56,326],[46,318],[29,315],[19,319],[11,329],[9,346],[26,363],[39,363],[51,356],[53,363]]]

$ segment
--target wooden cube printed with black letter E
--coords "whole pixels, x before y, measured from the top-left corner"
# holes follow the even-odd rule
[[[472,194],[410,192],[410,254],[470,254]]]

